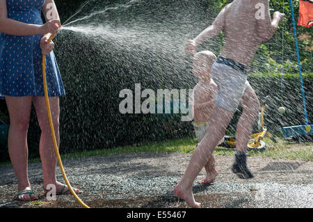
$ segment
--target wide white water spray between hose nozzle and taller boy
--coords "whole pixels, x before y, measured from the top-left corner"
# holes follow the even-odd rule
[[[184,56],[184,45],[212,19],[214,15],[208,18],[206,6],[188,1],[157,1],[152,5],[151,1],[132,0],[107,6],[88,1],[67,19],[60,35],[62,38],[74,32],[80,38],[92,41],[97,50],[102,51],[104,57],[109,54],[115,64],[137,63],[141,70],[141,74],[136,73],[138,79],[151,70],[158,70],[162,77],[150,72],[157,83],[162,82],[164,86],[167,82],[168,88],[182,87],[175,84],[178,78],[180,82],[191,83],[187,85],[193,88],[195,78],[186,73],[190,59]],[[70,45],[71,40],[66,41]],[[219,50],[222,42],[212,42],[203,47],[218,45],[214,48]]]

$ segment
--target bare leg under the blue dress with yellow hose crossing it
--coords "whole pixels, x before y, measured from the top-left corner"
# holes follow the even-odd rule
[[[58,97],[49,97],[52,122],[54,125],[54,132],[56,134],[56,141],[59,146],[60,134],[59,134],[59,116],[60,106]],[[51,136],[51,129],[49,124],[49,118],[47,114],[47,107],[45,97],[34,97],[33,104],[37,114],[38,122],[41,129],[40,136],[40,158],[42,161],[42,172],[44,177],[44,187],[48,184],[54,184],[56,186],[56,193],[60,193],[64,184],[61,184],[56,180],[56,154],[54,151],[54,143]],[[67,188],[63,191],[67,191]],[[75,192],[79,193],[78,190]]]

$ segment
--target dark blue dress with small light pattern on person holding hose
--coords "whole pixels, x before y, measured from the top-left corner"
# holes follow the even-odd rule
[[[7,0],[8,18],[28,24],[43,24],[41,9],[45,0]],[[0,33],[0,95],[44,96],[42,84],[43,35],[17,36]],[[49,97],[65,95],[54,52],[47,56]]]

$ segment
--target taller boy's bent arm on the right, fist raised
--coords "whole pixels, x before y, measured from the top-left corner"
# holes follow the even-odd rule
[[[262,41],[266,42],[270,40],[277,31],[278,25],[284,18],[284,14],[275,12],[272,21],[268,0],[258,0],[257,3],[264,6],[264,17],[257,19],[257,33],[259,37],[262,38]]]

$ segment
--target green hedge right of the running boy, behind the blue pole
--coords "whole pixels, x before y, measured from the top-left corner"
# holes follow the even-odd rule
[[[281,127],[290,127],[295,125],[304,125],[305,116],[303,110],[303,97],[300,87],[300,78],[298,75],[286,75],[283,78],[283,87],[281,91],[280,74],[267,74],[259,76],[251,75],[248,80],[255,89],[261,104],[264,104],[266,96],[270,96],[266,104],[266,127],[274,134],[281,136]],[[303,79],[305,88],[305,100],[307,105],[307,114],[309,122],[313,122],[313,77],[307,74]],[[286,112],[280,114],[278,108],[284,106]],[[236,121],[240,112],[236,113],[232,121],[231,132],[235,131]],[[255,127],[256,130],[256,127]]]

